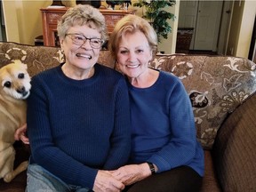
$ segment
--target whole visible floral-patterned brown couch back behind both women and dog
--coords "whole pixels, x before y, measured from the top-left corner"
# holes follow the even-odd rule
[[[60,48],[0,43],[0,67],[12,60],[28,65],[28,73],[53,68],[64,61]],[[114,68],[108,51],[99,62]],[[179,76],[194,109],[197,138],[212,148],[216,133],[228,113],[256,91],[256,65],[247,59],[221,56],[157,55],[150,67]]]

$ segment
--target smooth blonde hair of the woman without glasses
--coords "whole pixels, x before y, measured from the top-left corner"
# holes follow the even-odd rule
[[[122,36],[124,36],[127,32],[135,33],[137,31],[142,32],[146,36],[153,54],[156,54],[158,42],[154,28],[150,26],[147,20],[144,20],[139,16],[129,14],[116,23],[116,27],[111,33],[108,42],[108,50],[110,51],[114,60],[116,60],[116,53]]]

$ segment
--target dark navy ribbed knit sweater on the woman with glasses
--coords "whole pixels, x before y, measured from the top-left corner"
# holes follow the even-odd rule
[[[98,169],[116,169],[129,158],[128,97],[124,76],[100,64],[85,80],[68,78],[61,66],[34,76],[28,98],[30,164],[92,188]]]

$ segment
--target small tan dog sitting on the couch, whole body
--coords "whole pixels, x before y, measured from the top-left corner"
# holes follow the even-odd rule
[[[28,161],[15,170],[14,132],[26,124],[29,91],[31,88],[27,65],[14,60],[0,68],[0,179],[10,182],[28,167]]]

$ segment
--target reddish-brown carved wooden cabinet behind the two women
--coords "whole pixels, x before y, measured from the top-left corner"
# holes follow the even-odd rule
[[[67,12],[68,7],[64,8],[42,8],[40,9],[42,13],[43,21],[43,36],[44,36],[44,46],[59,46],[59,40],[57,36],[57,24],[60,17]],[[126,14],[134,14],[135,11],[132,10],[101,10],[100,12],[104,15],[106,19],[106,24],[108,28],[108,34],[110,34],[115,28],[116,22],[123,18]]]

